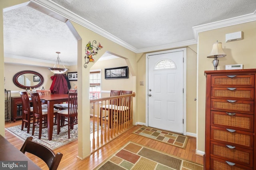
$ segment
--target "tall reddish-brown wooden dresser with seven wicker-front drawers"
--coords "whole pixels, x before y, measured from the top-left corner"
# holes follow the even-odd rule
[[[205,169],[256,169],[256,69],[205,71],[205,75]]]

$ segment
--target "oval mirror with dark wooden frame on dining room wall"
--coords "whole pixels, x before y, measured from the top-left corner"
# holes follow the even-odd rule
[[[42,74],[32,70],[24,70],[13,76],[13,82],[16,86],[23,89],[38,88],[44,83]]]

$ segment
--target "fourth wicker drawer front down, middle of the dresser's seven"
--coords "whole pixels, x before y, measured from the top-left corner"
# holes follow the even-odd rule
[[[211,125],[253,132],[254,115],[225,111],[211,111]]]

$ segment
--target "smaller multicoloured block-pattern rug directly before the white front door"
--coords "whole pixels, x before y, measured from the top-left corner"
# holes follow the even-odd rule
[[[133,133],[144,137],[148,137],[150,139],[154,139],[156,141],[174,145],[175,147],[180,147],[183,149],[186,148],[189,138],[184,135],[146,126],[142,126],[140,129],[134,131]]]

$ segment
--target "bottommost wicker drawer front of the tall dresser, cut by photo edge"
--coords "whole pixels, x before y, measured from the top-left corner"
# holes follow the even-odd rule
[[[231,162],[231,164],[234,162]],[[240,164],[229,165],[226,160],[211,157],[210,160],[211,170],[253,170],[248,166],[243,166]]]

